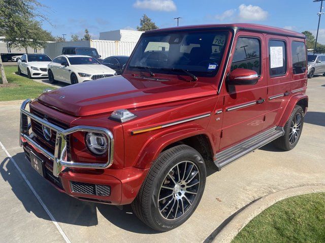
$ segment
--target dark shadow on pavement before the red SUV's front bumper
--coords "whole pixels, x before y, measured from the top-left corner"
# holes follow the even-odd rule
[[[95,226],[99,224],[99,211],[108,221],[124,230],[143,234],[158,233],[141,222],[133,214],[131,206],[116,207],[78,200],[59,192],[34,171],[25,159],[24,153],[14,155],[13,159],[19,164],[19,168],[40,195],[57,222],[79,226]],[[4,181],[10,184],[15,196],[21,201],[28,213],[50,220],[9,157],[5,158],[0,164],[0,174]],[[103,227],[103,230],[108,229]]]

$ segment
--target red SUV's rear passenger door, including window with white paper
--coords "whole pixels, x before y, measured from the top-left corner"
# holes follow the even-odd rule
[[[275,127],[290,94],[289,52],[287,37],[267,35],[268,98],[263,130]]]

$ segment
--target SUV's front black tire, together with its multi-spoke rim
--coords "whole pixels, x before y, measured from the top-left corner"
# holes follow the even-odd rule
[[[172,147],[154,161],[132,209],[154,230],[169,231],[183,224],[196,210],[205,182],[206,167],[201,154],[187,145]],[[164,193],[171,195],[165,197]]]

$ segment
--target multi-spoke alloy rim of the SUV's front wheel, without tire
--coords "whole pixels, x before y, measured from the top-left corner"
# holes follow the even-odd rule
[[[158,210],[166,220],[182,217],[198,194],[200,173],[191,161],[181,161],[165,177],[158,194]]]

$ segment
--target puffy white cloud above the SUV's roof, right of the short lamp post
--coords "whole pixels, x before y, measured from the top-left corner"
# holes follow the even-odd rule
[[[269,13],[261,7],[252,5],[240,5],[237,9],[229,9],[220,15],[216,15],[218,20],[228,21],[262,21],[266,20]]]

